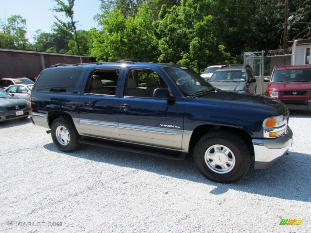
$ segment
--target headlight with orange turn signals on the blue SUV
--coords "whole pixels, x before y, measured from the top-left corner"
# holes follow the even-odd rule
[[[287,122],[284,116],[268,117],[262,122],[263,137],[275,138],[286,132]]]

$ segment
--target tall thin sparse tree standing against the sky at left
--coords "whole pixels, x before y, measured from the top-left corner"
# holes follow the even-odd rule
[[[68,0],[68,5],[66,5],[63,1],[61,0],[53,0],[56,2],[56,6],[52,9],[52,11],[55,12],[63,12],[67,18],[70,19],[68,22],[63,22],[60,19],[58,19],[57,16],[54,15],[55,19],[58,22],[54,22],[53,24],[53,30],[55,32],[61,33],[61,34],[74,34],[74,39],[77,44],[77,49],[78,49],[78,55],[80,55],[80,45],[79,45],[79,40],[78,40],[78,35],[77,35],[77,22],[79,21],[74,21],[73,20],[73,6],[75,0]]]

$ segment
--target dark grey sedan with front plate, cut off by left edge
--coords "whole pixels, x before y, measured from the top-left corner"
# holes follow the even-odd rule
[[[28,117],[30,114],[29,101],[15,98],[0,89],[0,121]]]

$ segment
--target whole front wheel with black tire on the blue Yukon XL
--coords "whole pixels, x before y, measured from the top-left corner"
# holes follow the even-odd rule
[[[220,152],[215,152],[215,148]],[[222,130],[204,135],[194,147],[193,158],[203,176],[219,183],[241,179],[251,162],[245,142],[238,135]]]

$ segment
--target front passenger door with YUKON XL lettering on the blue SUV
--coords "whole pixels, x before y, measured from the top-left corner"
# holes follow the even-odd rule
[[[181,149],[183,135],[183,100],[155,100],[147,94],[150,76],[159,87],[167,88],[165,73],[152,69],[132,68],[127,72],[124,92],[118,102],[118,130],[123,141]],[[134,79],[129,82],[129,79]],[[130,85],[128,84],[130,83]],[[142,95],[145,91],[145,96]],[[129,94],[131,93],[131,94]]]

